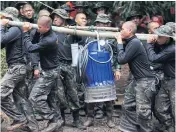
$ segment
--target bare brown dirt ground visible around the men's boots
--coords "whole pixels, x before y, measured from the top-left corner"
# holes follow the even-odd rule
[[[122,66],[122,75],[121,75],[121,79],[119,81],[116,82],[116,87],[117,87],[117,94],[123,94],[124,93],[124,88],[127,85],[127,78],[128,78],[128,74],[129,74],[129,68],[128,65],[124,65]],[[120,98],[118,96],[118,105],[122,104],[123,98]],[[117,107],[115,109],[115,112],[117,114],[121,114],[121,109],[120,107]],[[108,128],[108,126],[106,125],[106,117],[103,119],[95,119],[94,120],[94,126],[88,127],[87,130],[83,131],[83,130],[79,130],[76,128],[73,128],[71,126],[72,123],[72,116],[71,114],[66,114],[66,125],[63,127],[63,132],[118,132],[118,126],[119,126],[119,121],[120,118],[119,117],[113,117],[113,120],[116,124],[115,128]],[[85,122],[86,121],[86,117],[81,117],[81,121]],[[39,127],[44,126],[45,121],[43,122],[39,122]],[[1,124],[1,132],[7,132],[6,127],[8,126],[7,122],[3,122]],[[26,132],[23,130],[16,130],[14,132]],[[58,131],[59,132],[59,131]]]

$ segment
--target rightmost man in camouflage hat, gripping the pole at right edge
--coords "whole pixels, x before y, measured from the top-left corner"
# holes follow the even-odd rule
[[[174,26],[173,26],[174,27]],[[147,53],[149,60],[163,64],[164,80],[156,96],[155,114],[157,119],[166,125],[167,132],[175,131],[175,41],[171,27],[163,25],[154,31],[158,37],[149,37]],[[154,50],[155,44],[162,46],[159,52]]]

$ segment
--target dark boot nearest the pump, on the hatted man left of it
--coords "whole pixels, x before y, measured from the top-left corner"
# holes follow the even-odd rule
[[[79,111],[73,111],[72,112],[72,116],[73,116],[73,127],[77,127],[79,129],[83,129],[85,130],[86,127],[81,123],[80,119],[79,119]]]

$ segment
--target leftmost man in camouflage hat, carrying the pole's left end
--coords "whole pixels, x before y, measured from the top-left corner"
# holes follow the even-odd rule
[[[17,19],[18,10],[14,7],[7,7],[4,10],[4,16],[19,21]],[[22,30],[18,27],[6,27],[7,24],[8,20],[3,19],[0,30],[1,48],[6,48],[8,63],[8,71],[1,80],[1,108],[14,120],[8,130],[20,128],[28,121],[29,128],[38,132],[38,124],[33,115],[32,106],[27,99],[26,61],[24,59]]]

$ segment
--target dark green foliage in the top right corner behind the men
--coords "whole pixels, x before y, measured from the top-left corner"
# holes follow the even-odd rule
[[[175,14],[170,14],[170,8],[175,8],[174,1],[115,1],[113,7],[123,7],[122,18],[126,18],[132,10],[138,10],[143,15],[160,14],[165,21],[175,21]]]

